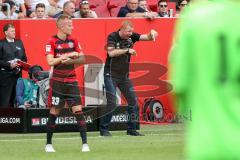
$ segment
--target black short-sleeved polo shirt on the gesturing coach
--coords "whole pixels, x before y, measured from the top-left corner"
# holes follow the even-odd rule
[[[133,32],[129,39],[122,39],[118,31],[113,32],[108,35],[107,47],[114,47],[115,49],[132,48],[134,43],[139,41],[140,36],[140,34]],[[107,54],[104,74],[112,77],[128,76],[130,59],[130,54],[123,54],[117,57],[109,57]]]

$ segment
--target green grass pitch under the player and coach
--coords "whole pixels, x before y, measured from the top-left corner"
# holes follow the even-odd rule
[[[55,133],[55,153],[45,153],[45,134],[0,134],[0,160],[181,160],[182,124],[141,125],[145,136],[111,132],[113,137],[88,133],[90,152],[81,152],[79,133]]]

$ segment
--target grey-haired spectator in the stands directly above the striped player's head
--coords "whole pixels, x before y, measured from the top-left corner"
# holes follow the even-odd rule
[[[75,3],[71,1],[67,1],[63,5],[63,11],[54,15],[53,18],[58,18],[62,14],[74,18],[74,12],[75,12]]]

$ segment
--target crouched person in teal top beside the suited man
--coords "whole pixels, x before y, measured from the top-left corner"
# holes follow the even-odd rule
[[[28,70],[28,78],[19,78],[16,86],[16,99],[18,108],[37,107],[38,105],[38,72],[42,71],[38,65],[32,66]]]

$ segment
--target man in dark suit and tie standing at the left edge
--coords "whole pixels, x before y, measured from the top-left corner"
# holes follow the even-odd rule
[[[5,38],[0,41],[0,107],[13,106],[16,97],[17,79],[21,68],[17,59],[27,61],[21,40],[15,39],[15,27],[7,23],[3,27]]]

